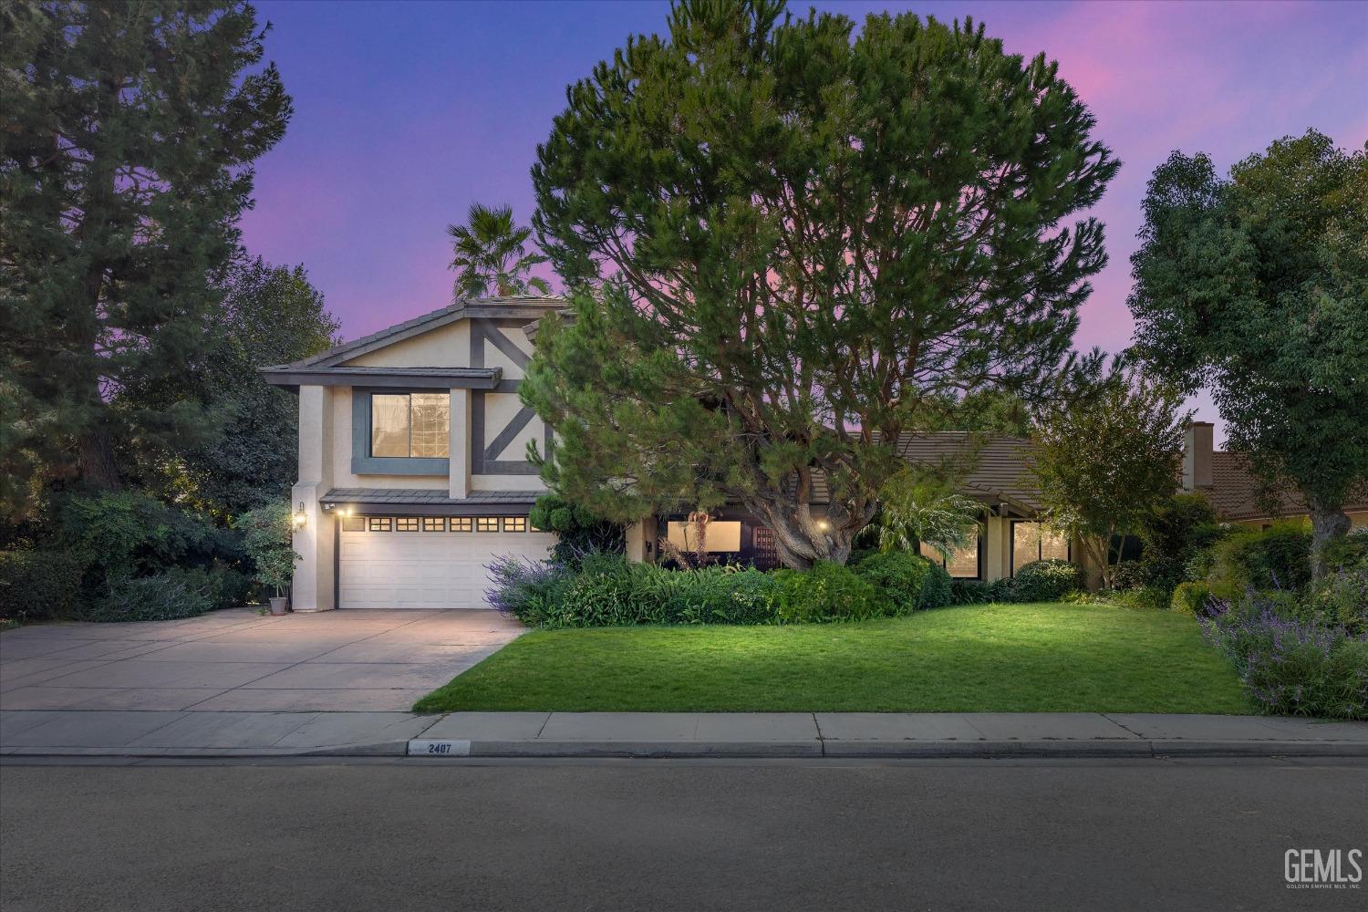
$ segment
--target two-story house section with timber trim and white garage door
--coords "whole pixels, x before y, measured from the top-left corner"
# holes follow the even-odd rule
[[[497,554],[546,556],[527,444],[547,429],[517,388],[558,298],[461,301],[295,364],[297,611],[486,607]]]

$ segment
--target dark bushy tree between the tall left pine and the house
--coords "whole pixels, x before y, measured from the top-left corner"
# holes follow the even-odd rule
[[[170,442],[130,476],[219,518],[285,496],[298,477],[298,399],[257,369],[326,351],[338,345],[339,328],[302,265],[239,258],[183,375],[131,384],[115,399],[118,410],[194,403],[212,410],[213,432]]]

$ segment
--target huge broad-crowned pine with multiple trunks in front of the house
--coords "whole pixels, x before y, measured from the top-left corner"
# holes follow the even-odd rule
[[[929,403],[1067,361],[1115,174],[1044,56],[966,22],[680,3],[568,92],[534,217],[573,290],[527,402],[544,474],[618,520],[740,502],[844,561]],[[824,473],[829,507],[808,506]]]

